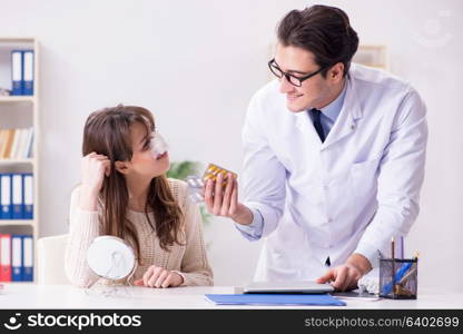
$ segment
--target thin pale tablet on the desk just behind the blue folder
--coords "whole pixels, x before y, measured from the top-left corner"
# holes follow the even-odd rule
[[[312,281],[297,282],[252,282],[244,286],[245,294],[323,294],[334,292],[329,284],[318,284]]]

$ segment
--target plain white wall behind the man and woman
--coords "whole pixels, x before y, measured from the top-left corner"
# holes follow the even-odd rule
[[[324,1],[343,8],[363,43],[390,48],[391,69],[428,107],[422,213],[407,242],[421,252],[420,284],[463,291],[461,1]],[[0,0],[0,33],[41,42],[41,235],[67,230],[79,181],[82,126],[119,102],[154,111],[174,160],[240,171],[240,126],[252,94],[268,80],[277,21],[311,1]],[[230,222],[206,230],[219,285],[252,277],[259,243]],[[444,277],[445,275],[445,277]]]

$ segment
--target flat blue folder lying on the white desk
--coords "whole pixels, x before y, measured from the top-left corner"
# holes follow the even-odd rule
[[[216,305],[314,305],[345,306],[346,303],[328,294],[206,294],[206,299]]]

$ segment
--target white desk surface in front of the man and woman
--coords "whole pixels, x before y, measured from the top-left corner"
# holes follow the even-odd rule
[[[345,299],[347,306],[217,306],[205,294],[233,294],[233,286],[117,287],[90,291],[70,285],[3,284],[0,308],[463,308],[463,294],[418,291],[415,301]],[[106,291],[106,294],[105,294]]]

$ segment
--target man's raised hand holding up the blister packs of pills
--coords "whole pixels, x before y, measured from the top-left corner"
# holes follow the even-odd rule
[[[227,185],[224,189],[224,181]],[[209,214],[228,217],[242,225],[253,223],[250,209],[238,202],[238,181],[232,174],[227,174],[224,180],[218,174],[217,180],[208,179],[204,187],[204,202]]]

